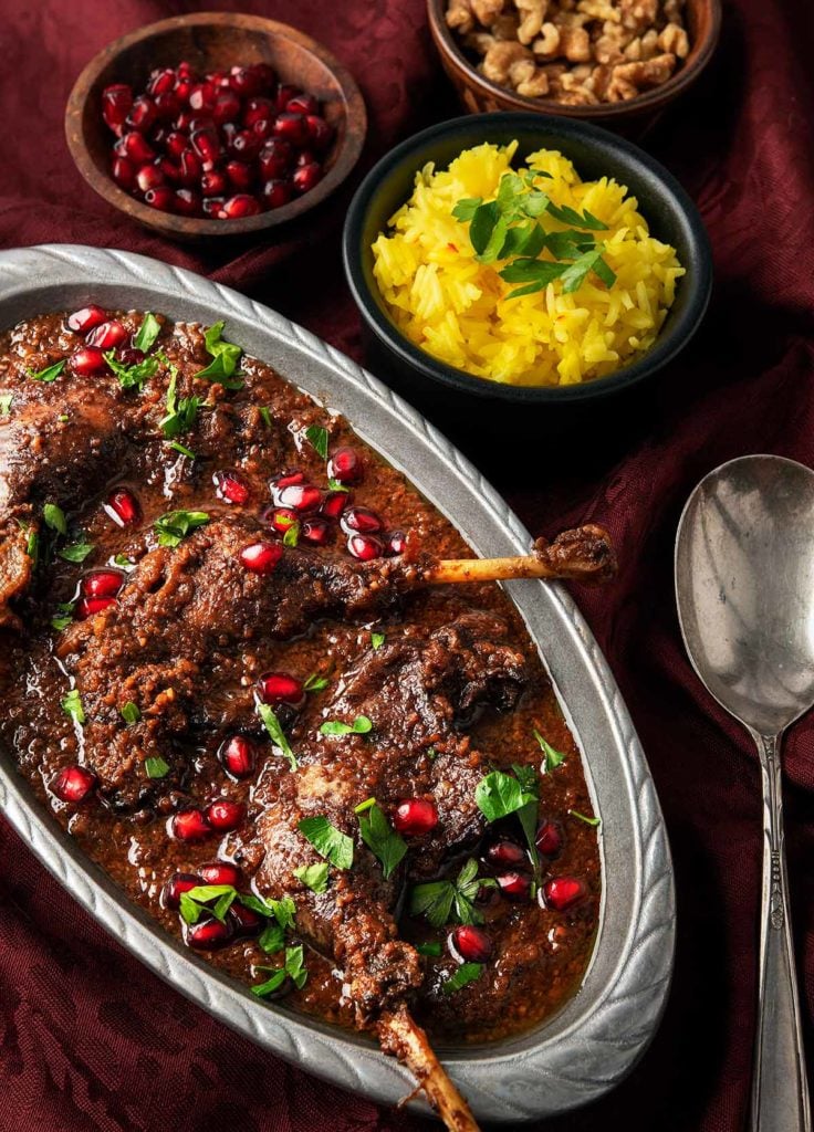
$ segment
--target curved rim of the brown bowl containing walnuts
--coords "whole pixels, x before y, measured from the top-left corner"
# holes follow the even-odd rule
[[[608,120],[633,117],[648,110],[659,109],[665,103],[671,102],[695,82],[712,58],[721,31],[721,0],[705,0],[705,2],[710,12],[709,29],[706,35],[691,48],[687,61],[680,70],[676,71],[661,86],[645,91],[643,94],[636,95],[635,98],[628,98],[627,102],[600,102],[595,106],[566,106],[554,100],[528,98],[525,95],[492,83],[472,66],[447,26],[444,19],[445,0],[427,0],[427,15],[432,40],[439,54],[445,55],[456,70],[465,76],[470,86],[479,88],[482,94],[492,96],[498,103],[503,103],[504,109],[531,110],[540,114],[562,114],[565,118]]]

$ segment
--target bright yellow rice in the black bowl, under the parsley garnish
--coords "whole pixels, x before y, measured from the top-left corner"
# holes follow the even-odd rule
[[[526,164],[551,175],[537,187],[555,204],[588,209],[608,225],[591,234],[605,243],[616,282],[608,289],[589,273],[572,294],[555,280],[535,294],[508,299],[517,284],[498,275],[505,261],[479,264],[469,224],[452,211],[465,197],[492,200],[516,148],[516,142],[477,146],[447,170],[436,172],[430,163],[417,174],[412,197],[372,246],[379,290],[415,345],[468,374],[509,385],[605,377],[653,344],[684,268],[674,248],[650,235],[624,185],[608,177],[581,181],[560,153],[540,149]],[[548,214],[542,221],[547,230],[568,226]]]

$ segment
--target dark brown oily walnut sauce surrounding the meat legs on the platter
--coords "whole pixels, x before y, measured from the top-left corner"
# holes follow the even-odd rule
[[[142,323],[142,315],[137,312],[117,317],[130,333]],[[242,511],[256,516],[271,501],[269,478],[291,468],[301,470],[309,482],[326,488],[325,461],[305,439],[307,426],[317,423],[329,430],[331,451],[350,444],[363,454],[365,477],[352,489],[354,504],[370,507],[383,516],[388,530],[414,531],[419,544],[435,556],[471,556],[465,542],[439,512],[400,472],[366,448],[343,419],[329,417],[286,384],[271,366],[250,358],[241,361],[246,384],[240,391],[194,381],[192,375],[211,361],[204,348],[203,331],[191,325],[173,326],[165,319],[162,321],[155,349],[165,351],[179,367],[179,393],[186,396],[195,392],[205,398],[196,426],[178,437],[196,453],[194,461],[172,451],[157,427],[165,413],[168,374],[163,366],[142,389],[121,389],[111,375],[80,377],[69,368],[52,384],[43,384],[27,377],[24,367],[42,370],[82,344],[80,337],[67,329],[66,316],[35,318],[0,336],[0,394],[12,395],[9,415],[0,418],[0,430],[8,435],[15,420],[19,422],[26,413],[44,413],[42,429],[51,430],[51,439],[41,446],[35,428],[23,445],[25,460],[35,466],[44,453],[50,466],[48,474],[52,473],[60,481],[52,482],[46,474],[40,482],[32,474],[33,487],[27,494],[23,492],[23,501],[0,500],[0,506],[5,507],[0,512],[2,520],[15,516],[6,522],[6,530],[17,521],[37,520],[45,501],[60,498],[61,484],[67,486],[69,495],[74,491],[74,501],[65,506],[69,540],[80,533],[94,546],[80,565],[59,557],[41,561],[33,584],[11,602],[22,631],[12,627],[0,631],[5,637],[0,652],[3,657],[2,740],[14,748],[20,772],[36,795],[84,851],[126,890],[130,899],[178,936],[181,935],[178,912],[166,910],[160,902],[162,887],[173,873],[195,873],[203,863],[217,858],[219,849],[221,856],[237,851],[248,887],[249,874],[257,865],[256,855],[241,858],[243,842],[233,834],[213,834],[200,843],[187,843],[168,833],[168,820],[174,811],[205,806],[213,798],[246,803],[249,824],[257,816],[258,807],[252,803],[257,775],[235,782],[225,774],[216,757],[224,736],[242,728],[257,738],[262,760],[281,762],[263,737],[251,705],[247,707],[257,678],[268,670],[290,672],[300,679],[312,672],[324,674],[329,679],[328,688],[311,693],[310,697],[311,703],[314,696],[327,703],[343,671],[370,650],[371,629],[393,641],[408,626],[434,629],[470,610],[498,614],[509,625],[512,646],[525,657],[529,680],[513,711],[500,712],[487,706],[481,712],[469,728],[471,746],[483,752],[497,767],[508,770],[512,763],[539,767],[541,752],[533,734],[537,729],[566,754],[559,767],[540,778],[540,817],[556,817],[565,835],[560,856],[556,860],[543,858],[541,880],[563,875],[579,877],[588,886],[589,894],[574,907],[558,912],[533,900],[513,903],[494,891],[488,893],[480,907],[483,927],[494,942],[491,958],[477,981],[454,994],[444,994],[440,989],[457,967],[446,943],[449,928],[435,929],[423,919],[405,916],[400,924],[403,938],[437,941],[442,945],[440,958],[421,958],[423,985],[413,1002],[417,1018],[432,1036],[454,1043],[487,1041],[539,1023],[575,993],[585,971],[598,919],[599,854],[595,830],[567,813],[569,809],[591,813],[576,747],[522,619],[498,585],[420,590],[378,620],[349,624],[320,619],[293,640],[271,640],[264,636],[263,626],[258,626],[250,641],[213,650],[196,685],[189,735],[186,741],[175,743],[173,751],[166,752],[172,773],[165,783],[149,781],[145,774],[140,797],[139,790],[134,794],[130,784],[122,796],[115,791],[106,796],[97,792],[80,805],[60,801],[49,789],[62,767],[85,760],[93,764],[92,753],[84,748],[84,730],[75,726],[60,706],[70,684],[57,651],[63,633],[71,629],[58,632],[52,627],[58,603],[74,600],[83,575],[112,563],[114,556],[123,555],[138,563],[155,547],[152,523],[161,514],[179,508],[203,511],[212,516],[212,522],[226,512]],[[260,405],[267,406],[267,419],[259,412]],[[115,420],[112,440],[103,438],[106,414]],[[94,426],[98,426],[97,436],[94,436]],[[59,434],[57,449],[53,447],[54,432]],[[134,440],[134,436],[138,439]],[[71,466],[84,469],[88,453],[95,464],[89,471],[75,474],[71,482]],[[17,461],[19,453],[3,440],[0,458]],[[245,507],[228,506],[217,498],[213,474],[221,469],[238,469],[246,478],[250,499]],[[143,517],[135,526],[118,526],[103,507],[111,490],[122,483],[132,489],[140,504]],[[344,537],[337,525],[332,548],[336,552],[344,551]],[[156,631],[161,632],[161,626]],[[102,651],[105,649],[103,632],[93,644]],[[367,744],[370,758],[375,760],[375,726],[362,741]],[[274,772],[277,773],[276,767]],[[288,772],[286,766],[279,772]],[[410,796],[409,780],[395,786],[401,788],[403,796]],[[504,820],[500,829],[522,843],[520,829],[513,824],[515,821]],[[494,875],[495,871],[483,864],[483,852],[495,837],[492,827],[480,844],[469,846],[457,854],[444,875],[456,875],[470,856],[479,859],[483,875]],[[412,851],[420,854],[420,842],[414,843]],[[297,942],[295,933],[292,942]],[[251,940],[233,942],[221,951],[207,952],[206,957],[216,967],[249,984],[268,977],[267,972],[256,974],[255,964],[274,966],[279,961],[266,955]],[[336,963],[307,947],[306,964],[308,981],[302,989],[290,990],[282,1000],[284,1004],[352,1026],[352,1005],[343,990],[343,972],[336,970]]]

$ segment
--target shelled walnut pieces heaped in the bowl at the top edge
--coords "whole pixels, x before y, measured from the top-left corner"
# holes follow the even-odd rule
[[[481,74],[529,98],[626,102],[689,53],[684,0],[448,0],[446,22]]]

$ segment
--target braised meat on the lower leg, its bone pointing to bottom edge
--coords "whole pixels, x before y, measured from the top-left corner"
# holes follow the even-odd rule
[[[354,808],[376,798],[387,814],[405,796],[435,803],[438,823],[409,838],[406,872],[438,871],[456,847],[483,832],[474,790],[485,758],[462,730],[486,704],[511,709],[525,679],[525,659],[507,642],[499,617],[469,614],[427,635],[408,628],[350,669],[325,709],[310,706],[291,734],[299,767],[269,763],[256,800],[264,854],[257,873],[266,895],[297,898],[298,929],[344,969],[360,1024],[395,1010],[421,980],[418,955],[399,941],[394,919],[400,885],[359,835]],[[327,718],[366,717],[369,735],[326,736]],[[355,842],[352,871],[332,869],[326,892],[308,890],[293,869],[320,857],[298,830],[323,816]]]

